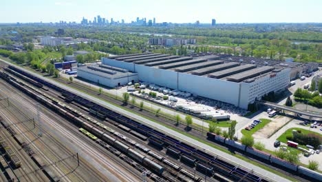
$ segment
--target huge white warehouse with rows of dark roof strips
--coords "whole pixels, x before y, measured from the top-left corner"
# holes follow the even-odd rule
[[[136,72],[139,81],[191,92],[244,109],[268,92],[285,90],[290,83],[290,68],[233,63],[217,56],[169,57],[166,54],[164,59],[160,54],[143,54],[142,60],[140,54],[104,57],[102,64]]]

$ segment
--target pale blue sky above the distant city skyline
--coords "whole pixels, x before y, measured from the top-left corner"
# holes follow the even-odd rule
[[[0,22],[56,22],[101,17],[125,22],[322,22],[322,0],[3,0]]]

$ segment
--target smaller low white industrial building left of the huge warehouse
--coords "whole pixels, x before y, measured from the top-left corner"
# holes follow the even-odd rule
[[[82,66],[77,70],[77,77],[115,88],[129,82],[138,81],[138,74],[109,65]]]

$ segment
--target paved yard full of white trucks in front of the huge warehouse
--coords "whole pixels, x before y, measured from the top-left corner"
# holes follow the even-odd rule
[[[144,83],[142,85],[145,85]],[[118,91],[127,92],[133,90],[129,87],[122,87]],[[247,111],[235,107],[228,103],[222,103],[211,99],[202,97],[196,97],[188,92],[180,92],[178,90],[169,90],[167,88],[160,88],[157,85],[150,85],[150,87],[142,88],[140,91],[133,90],[131,93],[136,94],[145,99],[162,103],[173,109],[182,110],[195,117],[202,119],[222,119],[224,116],[229,116],[230,119],[236,119],[236,117],[244,116]],[[155,96],[151,96],[151,93],[155,93]],[[213,114],[213,115],[212,115]],[[213,117],[214,115],[221,115],[221,117]]]

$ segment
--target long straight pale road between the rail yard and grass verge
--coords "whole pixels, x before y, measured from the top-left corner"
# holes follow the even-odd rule
[[[7,62],[8,63],[8,62]],[[11,63],[9,63],[11,64]],[[11,64],[13,65],[13,64]],[[15,66],[15,65],[14,65]],[[24,68],[21,68],[23,70],[25,70]],[[59,85],[61,88],[64,88],[65,90],[68,90],[69,92],[74,92],[75,94],[78,94],[82,97],[86,97],[87,99],[89,100],[92,100],[96,103],[100,103],[101,105],[105,105],[107,106],[107,108],[111,109],[111,110],[114,110],[116,112],[119,112],[121,114],[124,114],[124,115],[127,115],[128,117],[132,117],[133,119],[136,119],[138,121],[141,121],[142,123],[145,123],[147,125],[151,125],[151,127],[153,128],[158,128],[158,130],[162,130],[164,132],[167,132],[167,134],[175,137],[175,138],[178,138],[182,141],[186,141],[186,142],[189,142],[189,143],[192,143],[193,145],[195,145],[196,147],[199,147],[199,148],[202,148],[204,150],[207,150],[208,152],[212,152],[213,154],[216,154],[218,156],[222,156],[223,158],[225,158],[226,160],[228,161],[233,161],[234,163],[237,163],[238,165],[241,165],[241,166],[244,166],[245,168],[247,168],[248,170],[254,170],[255,173],[257,174],[261,174],[262,176],[266,176],[267,178],[271,179],[271,180],[274,180],[274,181],[289,181],[288,179],[285,179],[273,172],[269,172],[267,170],[264,170],[262,168],[259,168],[257,165],[253,165],[251,163],[248,163],[246,161],[243,161],[235,156],[232,156],[230,154],[227,154],[225,152],[222,152],[221,150],[217,150],[215,148],[212,148],[211,146],[209,145],[206,145],[204,143],[201,143],[199,141],[196,141],[194,139],[191,139],[189,136],[186,136],[184,134],[180,134],[178,132],[175,132],[167,127],[165,127],[164,125],[160,125],[158,123],[154,123],[153,121],[150,121],[149,119],[145,119],[144,117],[140,117],[138,116],[137,114],[133,114],[132,112],[129,112],[127,110],[124,110],[122,108],[118,108],[116,105],[112,105],[110,103],[107,103],[105,101],[102,101],[100,99],[97,99],[95,97],[92,97],[88,94],[85,94],[83,92],[80,92],[78,90],[74,90],[72,88],[69,88],[65,85],[61,85],[59,83],[57,83],[56,81],[53,81],[52,79],[48,79],[48,78],[45,78],[45,77],[41,77],[39,76],[39,74],[36,74],[34,72],[31,72],[29,70],[25,70],[25,72],[28,72],[30,74],[33,74],[35,77],[40,77],[41,79],[49,82],[49,83],[52,83],[52,84],[55,84],[55,85]]]

